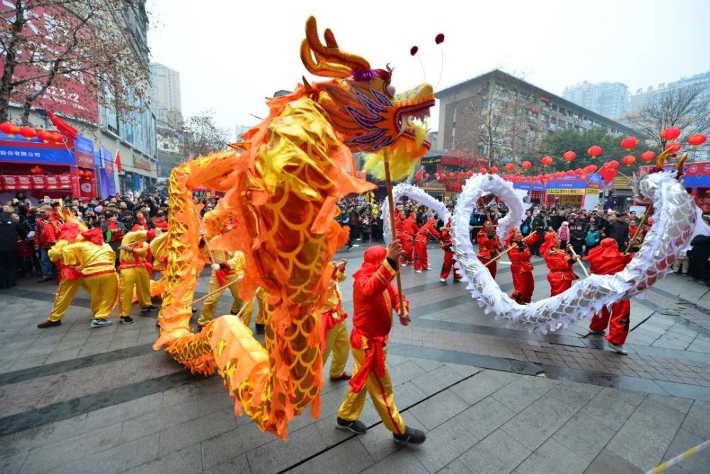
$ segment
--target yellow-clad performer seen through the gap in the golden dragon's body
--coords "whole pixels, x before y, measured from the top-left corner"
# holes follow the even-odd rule
[[[227,288],[231,291],[231,296],[234,297],[234,302],[231,303],[231,314],[238,314],[241,308],[246,304],[244,308],[244,313],[251,315],[253,309],[253,302],[244,302],[239,298],[239,281],[241,276],[244,275],[244,267],[246,266],[246,259],[242,252],[226,252],[224,250],[214,250],[212,252],[212,275],[209,276],[209,293],[211,294],[202,305],[202,310],[200,310],[200,318],[197,320],[197,327],[204,328],[209,321],[212,321],[214,316],[214,309],[217,308],[217,303],[219,303],[219,298],[222,297],[224,293],[224,288],[221,290],[220,287],[225,284],[230,284]],[[219,291],[218,291],[219,290]]]

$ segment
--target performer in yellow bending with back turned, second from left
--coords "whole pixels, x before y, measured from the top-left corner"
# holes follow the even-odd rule
[[[62,264],[81,266],[94,313],[91,327],[102,328],[111,325],[109,316],[119,296],[119,279],[114,268],[116,254],[109,244],[104,244],[101,229],[89,229],[82,232],[82,237],[82,242],[65,245],[62,249]]]

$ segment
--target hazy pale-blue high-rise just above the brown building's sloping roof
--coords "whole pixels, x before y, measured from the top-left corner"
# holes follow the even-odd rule
[[[562,97],[585,109],[614,119],[626,113],[628,87],[621,82],[579,82],[564,88]]]

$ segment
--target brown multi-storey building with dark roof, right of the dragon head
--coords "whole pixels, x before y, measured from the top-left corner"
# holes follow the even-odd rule
[[[501,70],[437,92],[437,148],[471,153],[491,163],[517,162],[548,131],[604,129],[636,134],[628,126],[580,107]]]

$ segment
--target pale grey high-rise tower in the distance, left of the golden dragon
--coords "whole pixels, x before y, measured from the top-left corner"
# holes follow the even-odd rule
[[[151,108],[158,119],[158,128],[175,129],[182,122],[180,72],[151,63]]]

